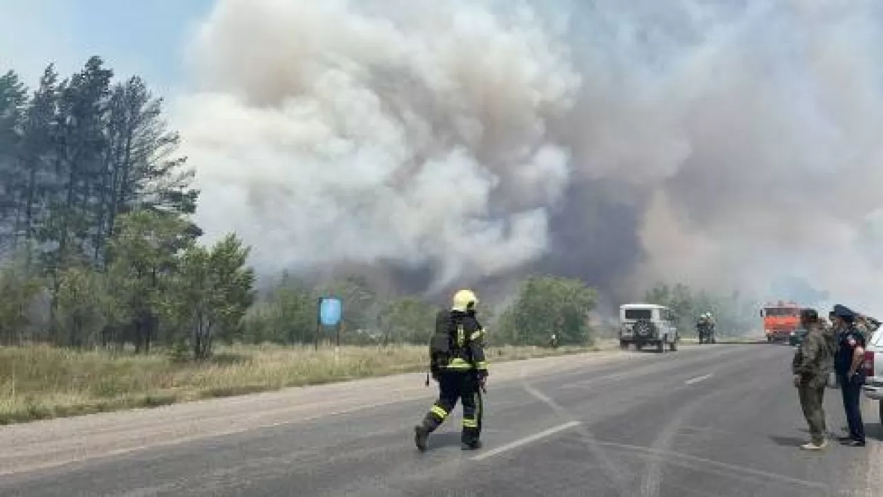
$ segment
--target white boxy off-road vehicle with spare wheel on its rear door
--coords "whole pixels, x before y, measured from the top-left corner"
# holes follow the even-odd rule
[[[663,305],[652,303],[627,303],[619,308],[619,346],[629,348],[635,344],[640,350],[648,344],[656,346],[657,352],[677,350],[679,340],[675,313]]]

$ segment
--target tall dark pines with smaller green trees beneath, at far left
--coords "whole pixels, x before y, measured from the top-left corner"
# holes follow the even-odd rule
[[[64,79],[48,65],[33,92],[0,76],[0,341],[162,342],[204,357],[238,326],[248,248],[234,234],[197,243],[179,140],[162,99],[138,76],[114,81],[101,57]]]

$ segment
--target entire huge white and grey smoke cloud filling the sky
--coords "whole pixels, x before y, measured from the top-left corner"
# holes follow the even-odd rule
[[[804,277],[880,310],[878,4],[221,0],[177,107],[200,224],[263,271],[443,287],[569,251],[608,290]]]

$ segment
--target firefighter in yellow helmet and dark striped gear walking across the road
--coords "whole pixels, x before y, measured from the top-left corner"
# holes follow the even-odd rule
[[[478,302],[479,299],[471,290],[460,290],[454,294],[448,313],[447,360],[437,371],[433,371],[433,377],[439,383],[439,398],[426,413],[423,422],[414,427],[414,442],[421,451],[426,450],[429,434],[449,417],[457,400],[463,401],[460,447],[464,450],[481,447],[481,391],[487,379],[487,362],[484,352],[485,331],[475,317],[475,304]]]

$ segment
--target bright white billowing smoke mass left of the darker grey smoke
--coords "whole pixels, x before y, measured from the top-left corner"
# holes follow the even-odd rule
[[[579,84],[566,47],[530,15],[389,7],[217,5],[182,109],[202,223],[272,269],[386,259],[446,282],[540,256],[570,175],[547,132]]]

